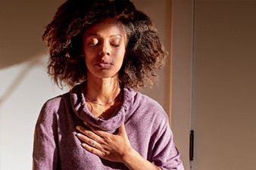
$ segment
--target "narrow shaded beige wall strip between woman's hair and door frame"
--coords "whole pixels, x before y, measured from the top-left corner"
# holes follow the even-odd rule
[[[164,43],[167,51],[171,53],[171,1],[134,0],[133,2],[137,8],[151,17],[158,29],[161,41]],[[170,57],[171,55],[168,56],[166,66],[159,73],[158,84],[155,84],[153,88],[139,89],[142,93],[158,100],[168,114],[170,114]]]

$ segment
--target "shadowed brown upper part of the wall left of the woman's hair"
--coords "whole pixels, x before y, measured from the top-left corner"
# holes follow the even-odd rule
[[[0,69],[42,53],[42,31],[61,2],[0,1]]]

